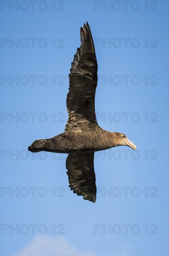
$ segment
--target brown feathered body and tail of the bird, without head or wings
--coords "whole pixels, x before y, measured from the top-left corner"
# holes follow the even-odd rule
[[[34,141],[29,149],[32,152],[49,151],[69,154],[71,152],[95,152],[116,146],[116,133],[96,126],[83,132],[64,132],[51,139]]]

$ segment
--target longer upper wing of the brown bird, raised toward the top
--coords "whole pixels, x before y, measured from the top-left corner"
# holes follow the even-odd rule
[[[74,55],[69,74],[67,111],[69,119],[65,131],[82,123],[97,124],[95,91],[97,87],[97,60],[89,24],[80,28],[81,45]]]

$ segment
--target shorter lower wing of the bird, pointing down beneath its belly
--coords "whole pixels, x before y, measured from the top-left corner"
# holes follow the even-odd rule
[[[66,159],[69,187],[85,200],[96,201],[96,178],[94,172],[94,152],[70,153]]]

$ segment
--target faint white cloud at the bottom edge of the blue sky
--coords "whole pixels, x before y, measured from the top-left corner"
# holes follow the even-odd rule
[[[82,251],[63,237],[39,235],[14,256],[96,256],[93,251]]]

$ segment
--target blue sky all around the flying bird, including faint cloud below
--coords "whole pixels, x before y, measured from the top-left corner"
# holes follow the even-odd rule
[[[168,1],[32,5],[1,1],[1,255],[167,256]],[[95,154],[94,204],[68,188],[66,154],[27,151],[64,131],[86,20],[98,124],[137,146]]]

